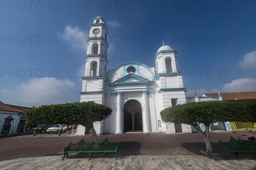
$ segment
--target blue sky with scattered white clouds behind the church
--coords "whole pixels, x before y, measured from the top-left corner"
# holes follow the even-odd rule
[[[0,1],[0,100],[80,100],[89,25],[108,26],[108,69],[178,54],[187,96],[256,91],[256,1]]]

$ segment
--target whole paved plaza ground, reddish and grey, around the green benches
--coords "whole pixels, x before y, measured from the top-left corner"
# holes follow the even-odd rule
[[[256,136],[256,133],[246,134],[246,138]],[[218,141],[226,142],[232,135],[231,132],[212,132],[214,149],[220,150]],[[199,133],[101,135],[99,142],[105,138],[119,142],[118,160],[115,153],[94,154],[90,161],[87,153],[72,153],[70,159],[61,161],[63,148],[81,138],[91,142],[91,136],[56,134],[0,139],[0,170],[256,170],[256,158],[251,153],[239,153],[238,157],[233,153],[233,160],[202,155],[199,149],[205,149],[205,143]]]

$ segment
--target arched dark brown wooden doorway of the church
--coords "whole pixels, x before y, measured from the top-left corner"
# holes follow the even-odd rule
[[[124,106],[124,131],[136,132],[143,131],[142,111],[140,102],[129,100]]]

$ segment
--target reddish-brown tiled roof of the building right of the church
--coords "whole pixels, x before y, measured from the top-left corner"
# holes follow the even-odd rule
[[[205,96],[218,96],[218,93],[205,93]],[[223,100],[256,99],[256,92],[221,93]]]

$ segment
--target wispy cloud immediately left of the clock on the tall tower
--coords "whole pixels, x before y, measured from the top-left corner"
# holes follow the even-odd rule
[[[71,44],[73,51],[81,51],[84,54],[87,52],[87,36],[79,27],[65,26],[61,36]]]

